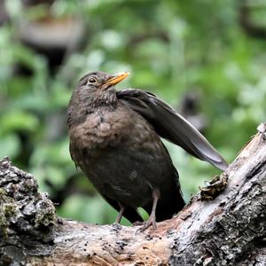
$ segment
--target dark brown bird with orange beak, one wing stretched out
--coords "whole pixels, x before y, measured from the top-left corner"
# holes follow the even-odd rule
[[[70,153],[102,197],[141,231],[184,207],[178,173],[160,137],[224,170],[227,163],[180,114],[150,92],[116,91],[129,74],[92,72],[78,82],[67,110]]]

